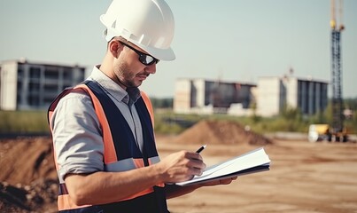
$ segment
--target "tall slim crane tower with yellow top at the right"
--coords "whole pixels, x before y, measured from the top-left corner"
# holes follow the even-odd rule
[[[332,123],[330,137],[335,141],[346,141],[344,128],[343,98],[342,98],[342,67],[341,67],[341,32],[345,29],[342,21],[343,0],[338,1],[338,11],[335,0],[331,0],[331,83],[332,83]],[[338,19],[337,13],[338,12]]]

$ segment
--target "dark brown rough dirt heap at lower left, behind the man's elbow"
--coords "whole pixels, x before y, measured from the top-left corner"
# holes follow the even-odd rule
[[[0,140],[0,212],[56,212],[58,178],[49,137]]]

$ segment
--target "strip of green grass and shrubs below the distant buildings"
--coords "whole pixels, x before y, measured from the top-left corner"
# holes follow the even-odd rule
[[[299,114],[276,117],[238,117],[227,114],[174,114],[171,110],[155,112],[155,132],[161,134],[179,134],[201,120],[226,120],[249,126],[256,133],[276,131],[306,132],[312,123],[326,123],[323,120],[302,118]],[[356,133],[356,118],[345,121],[350,133]],[[329,122],[327,122],[329,123]],[[37,133],[50,132],[47,111],[0,111],[0,133]]]

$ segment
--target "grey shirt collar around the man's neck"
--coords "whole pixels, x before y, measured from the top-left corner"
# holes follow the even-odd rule
[[[93,67],[89,80],[99,83],[105,91],[118,101],[122,101],[127,105],[136,103],[136,100],[141,97],[140,90],[137,87],[127,88],[127,91],[125,91],[118,83],[115,83],[110,77],[100,71],[99,67],[100,65]]]

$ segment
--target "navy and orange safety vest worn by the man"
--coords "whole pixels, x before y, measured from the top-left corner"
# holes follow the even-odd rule
[[[48,118],[51,118],[59,99],[71,91],[82,90],[89,94],[92,100],[99,123],[102,127],[104,142],[105,171],[134,170],[159,162],[159,156],[155,146],[153,135],[153,111],[151,101],[142,91],[141,98],[135,103],[143,127],[144,148],[143,153],[136,145],[135,138],[120,110],[115,106],[101,86],[95,81],[86,81],[74,88],[69,88],[58,95],[49,107]],[[50,130],[52,130],[50,125]],[[55,157],[56,169],[59,165]],[[128,198],[115,203],[99,206],[77,206],[71,200],[64,180],[59,179],[58,210],[60,212],[92,212],[92,210],[104,210],[104,212],[137,212],[153,209],[155,212],[167,212],[164,184],[145,189]],[[146,207],[145,207],[146,206]],[[149,207],[151,206],[151,207]],[[139,209],[140,208],[140,209]],[[146,208],[146,209],[145,209]]]

